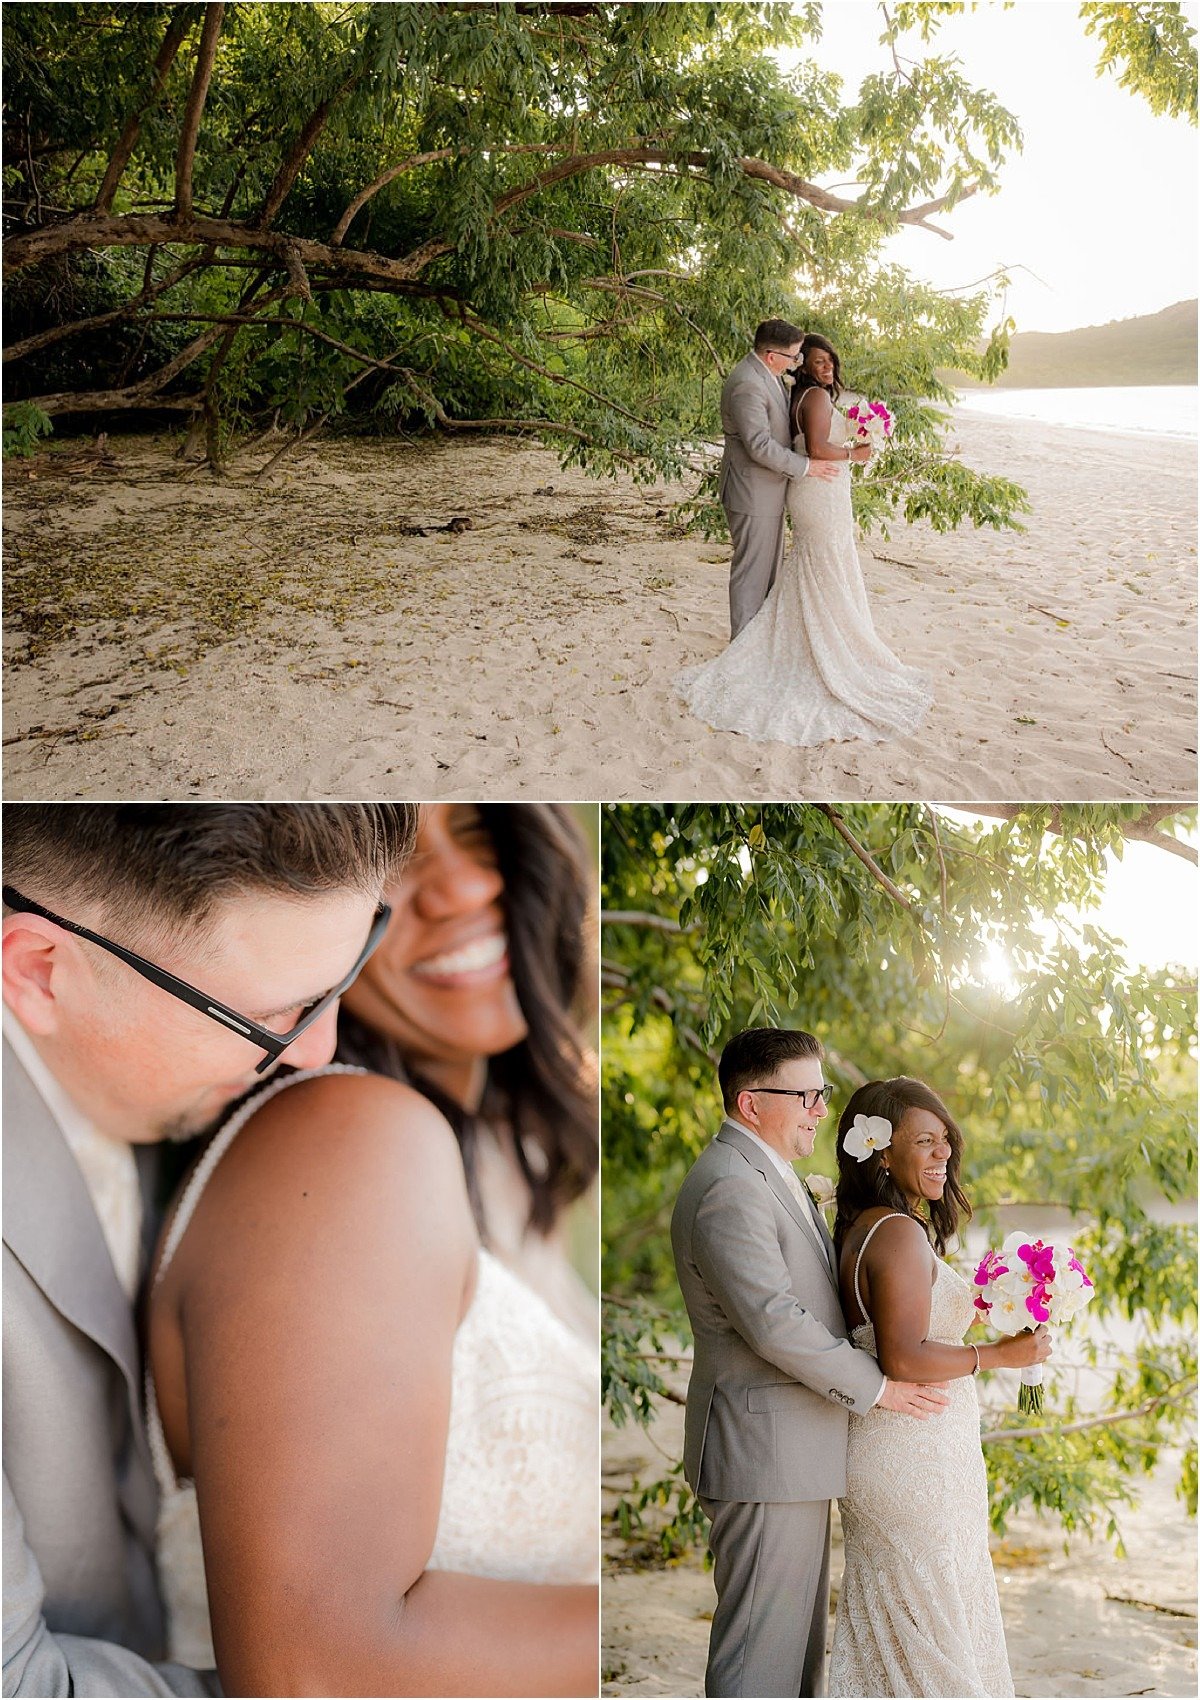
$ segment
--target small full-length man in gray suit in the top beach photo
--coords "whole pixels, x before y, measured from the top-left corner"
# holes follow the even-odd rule
[[[804,332],[787,320],[763,320],[755,350],[734,366],[721,389],[726,450],[717,495],[733,537],[729,563],[729,638],[748,626],[775,583],[784,556],[784,508],[792,478],[836,478],[833,461],[792,452],[784,374],[799,359]]]

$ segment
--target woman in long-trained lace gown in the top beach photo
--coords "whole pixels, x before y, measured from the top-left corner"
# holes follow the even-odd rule
[[[719,731],[790,745],[880,743],[914,731],[928,712],[928,677],[879,639],[867,605],[850,462],[869,450],[850,442],[840,394],[835,348],[806,337],[792,391],[795,449],[846,468],[835,479],[792,479],[792,547],[770,595],[727,649],[678,677],[692,712]]]

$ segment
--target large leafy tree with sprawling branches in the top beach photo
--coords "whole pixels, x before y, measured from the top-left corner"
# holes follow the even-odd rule
[[[848,99],[816,5],[12,5],[10,394],[202,418],[214,468],[223,420],[369,420],[678,476],[785,313],[896,411],[863,524],[1010,524],[1018,488],[948,466],[926,405],[937,367],[994,377],[1008,328],[979,355],[986,294],[872,258],[1020,144],[952,58],[892,54],[947,10],[880,8]]]

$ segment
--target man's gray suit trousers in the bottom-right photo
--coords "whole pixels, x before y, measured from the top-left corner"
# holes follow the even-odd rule
[[[717,1588],[705,1695],[823,1695],[829,1501],[700,1504]]]

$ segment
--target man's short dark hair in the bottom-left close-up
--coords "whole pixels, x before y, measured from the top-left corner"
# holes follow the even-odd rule
[[[68,920],[194,928],[233,892],[374,894],[415,831],[410,802],[7,802],[5,882]]]

